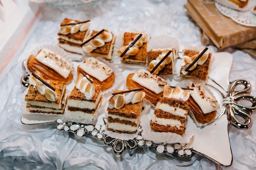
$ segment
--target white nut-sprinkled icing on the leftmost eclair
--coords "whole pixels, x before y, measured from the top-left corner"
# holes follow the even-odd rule
[[[58,55],[49,49],[42,49],[40,53],[36,55],[36,60],[54,69],[64,78],[67,78],[70,72],[73,70],[73,66],[70,64],[70,62],[61,57],[61,55]]]

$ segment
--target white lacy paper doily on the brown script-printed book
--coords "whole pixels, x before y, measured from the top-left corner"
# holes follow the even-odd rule
[[[244,25],[244,26],[256,26],[256,15],[254,15],[250,11],[236,11],[235,9],[231,9],[226,7],[218,2],[215,2],[215,6],[222,15],[225,15],[234,22]]]

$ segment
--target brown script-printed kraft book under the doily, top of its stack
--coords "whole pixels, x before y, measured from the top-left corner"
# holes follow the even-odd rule
[[[187,0],[184,7],[219,49],[256,39],[256,27],[240,25],[222,15],[213,0]]]

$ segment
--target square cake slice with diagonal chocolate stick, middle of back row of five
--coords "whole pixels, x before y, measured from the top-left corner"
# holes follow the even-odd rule
[[[144,31],[139,33],[124,33],[123,46],[117,51],[121,62],[146,64],[148,37]]]

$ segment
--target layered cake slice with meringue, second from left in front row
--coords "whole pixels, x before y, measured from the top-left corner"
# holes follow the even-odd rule
[[[94,84],[88,75],[79,74],[76,85],[67,99],[64,119],[76,123],[93,124],[101,105],[101,85]]]

